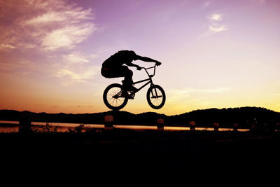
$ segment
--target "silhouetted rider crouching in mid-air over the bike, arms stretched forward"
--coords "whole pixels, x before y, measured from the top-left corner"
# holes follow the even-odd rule
[[[111,55],[111,57],[109,57],[107,60],[103,62],[101,74],[106,78],[125,77],[125,79],[123,80],[124,89],[130,91],[137,90],[137,88],[134,88],[134,86],[132,85],[133,71],[128,69],[127,66],[137,67],[137,70],[141,70],[142,67],[139,67],[139,65],[137,64],[133,64],[132,63],[133,60],[155,62],[157,66],[162,64],[157,60],[153,60],[148,57],[141,57],[132,50],[120,50],[118,51],[118,53]],[[124,66],[123,64],[126,64],[127,66]]]

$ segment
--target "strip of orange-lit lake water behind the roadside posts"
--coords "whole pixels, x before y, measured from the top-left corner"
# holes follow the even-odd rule
[[[7,121],[7,120],[0,120],[0,124],[6,124],[5,126],[0,125],[0,132],[18,132],[18,121]],[[43,128],[39,127],[46,127],[45,122],[32,122],[32,128],[36,130],[42,130]],[[80,123],[48,123],[50,128],[56,128],[57,132],[66,132],[68,130],[73,130],[75,127],[78,127]],[[42,126],[40,126],[42,125]],[[85,128],[104,128],[102,124],[85,124]],[[148,125],[113,125],[116,129],[131,129],[131,130],[157,130],[157,126],[148,126]],[[165,130],[167,131],[177,131],[177,130],[190,130],[190,127],[170,127],[165,126]],[[195,127],[195,130],[209,130],[213,131],[213,127]],[[232,131],[232,128],[219,128],[219,131]],[[238,129],[238,131],[248,131],[248,129]]]

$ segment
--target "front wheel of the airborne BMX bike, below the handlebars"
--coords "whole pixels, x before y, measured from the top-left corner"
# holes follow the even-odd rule
[[[165,90],[163,90],[160,85],[152,85],[147,92],[148,104],[153,109],[161,109],[165,105]]]

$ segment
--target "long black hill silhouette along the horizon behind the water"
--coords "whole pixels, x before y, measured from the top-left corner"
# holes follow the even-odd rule
[[[102,113],[31,113],[32,121],[57,123],[103,124],[104,117],[114,116],[116,125],[155,125],[158,118],[165,119],[166,125],[186,126],[194,120],[197,127],[232,127],[249,128],[251,123],[279,123],[280,113],[260,107],[240,107],[228,109],[204,109],[166,116],[165,114],[146,112],[134,114],[127,111],[107,111]],[[0,110],[0,120],[19,120],[20,111]]]

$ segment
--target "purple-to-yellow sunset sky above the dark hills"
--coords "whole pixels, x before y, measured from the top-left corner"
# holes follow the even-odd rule
[[[123,79],[100,69],[118,50],[162,62],[167,95],[154,110],[141,90],[124,111],[280,111],[279,0],[0,0],[0,109],[109,111],[103,91]]]

